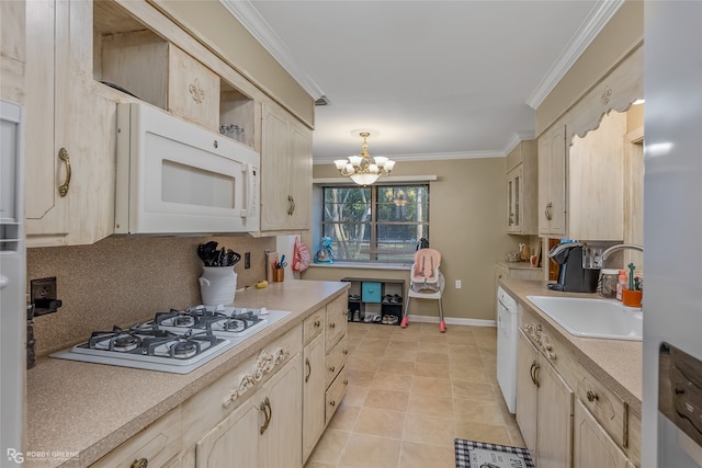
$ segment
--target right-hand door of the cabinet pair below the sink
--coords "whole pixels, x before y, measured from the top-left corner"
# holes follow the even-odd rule
[[[540,468],[564,468],[570,466],[573,391],[543,356],[540,359],[536,373],[540,384],[536,465]]]

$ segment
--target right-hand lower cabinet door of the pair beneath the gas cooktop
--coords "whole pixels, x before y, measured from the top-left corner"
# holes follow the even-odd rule
[[[301,467],[302,457],[302,429],[303,404],[301,376],[302,357],[299,353],[293,357],[275,376],[264,386],[265,398],[260,403],[268,401],[268,427],[261,434],[261,467]],[[260,415],[260,422],[264,424],[265,414]],[[262,425],[264,427],[264,425]],[[260,433],[259,430],[257,432]],[[222,466],[222,465],[220,465]],[[256,465],[226,465],[226,466],[256,466]]]

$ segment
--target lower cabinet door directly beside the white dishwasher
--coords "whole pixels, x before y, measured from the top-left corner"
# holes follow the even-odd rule
[[[517,343],[517,423],[532,454],[536,454],[536,419],[539,387],[535,373],[539,370],[539,354],[520,331]]]

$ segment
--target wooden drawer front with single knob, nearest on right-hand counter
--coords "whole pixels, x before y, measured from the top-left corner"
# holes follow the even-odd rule
[[[626,447],[627,408],[609,388],[585,367],[580,366],[575,391],[582,404],[592,413],[620,447]]]

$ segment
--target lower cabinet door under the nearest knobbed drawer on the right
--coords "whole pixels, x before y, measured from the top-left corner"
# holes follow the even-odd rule
[[[573,468],[627,468],[631,463],[580,400],[575,403]]]

